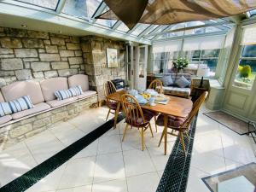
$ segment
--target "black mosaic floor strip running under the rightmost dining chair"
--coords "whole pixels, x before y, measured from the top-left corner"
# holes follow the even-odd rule
[[[184,136],[187,155],[183,153],[183,148],[179,137],[172,148],[165,171],[160,179],[156,192],[185,192],[189,178],[189,167],[192,156],[192,148],[195,137],[197,116],[191,124],[189,138]]]

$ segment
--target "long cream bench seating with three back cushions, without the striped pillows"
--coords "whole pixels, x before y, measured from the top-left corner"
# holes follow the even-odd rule
[[[55,97],[55,90],[67,90],[75,85],[81,85],[84,91],[83,95],[73,96],[65,100],[58,101]],[[6,85],[1,88],[0,102],[13,101],[21,96],[30,96],[34,108],[27,109],[11,115],[5,115],[0,118],[0,126],[16,122],[19,119],[31,117],[33,114],[42,113],[51,109],[68,105],[69,103],[83,100],[90,96],[95,96],[96,91],[89,90],[89,81],[87,75],[77,74],[67,78],[45,79],[40,83],[36,81],[19,81]]]

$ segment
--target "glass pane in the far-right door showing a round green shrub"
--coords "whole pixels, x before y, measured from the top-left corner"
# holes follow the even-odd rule
[[[236,70],[233,86],[252,90],[256,76],[256,45],[245,45]]]

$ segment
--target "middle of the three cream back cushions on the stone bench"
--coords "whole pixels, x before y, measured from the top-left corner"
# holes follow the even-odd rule
[[[41,89],[46,102],[55,100],[56,90],[67,90],[67,78],[51,78],[40,82]]]

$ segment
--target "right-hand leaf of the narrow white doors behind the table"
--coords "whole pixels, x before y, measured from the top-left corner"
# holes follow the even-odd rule
[[[136,83],[137,90],[146,90],[148,46],[137,47]]]

